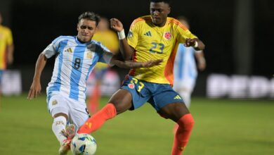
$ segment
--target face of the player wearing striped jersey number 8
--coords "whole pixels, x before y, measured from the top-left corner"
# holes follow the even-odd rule
[[[96,21],[81,19],[77,25],[77,37],[81,42],[90,42],[96,29]]]

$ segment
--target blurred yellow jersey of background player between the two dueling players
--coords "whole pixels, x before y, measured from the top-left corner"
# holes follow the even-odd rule
[[[96,40],[110,49],[112,53],[115,53],[119,50],[119,42],[117,34],[111,30],[98,31],[93,35],[93,40]],[[107,68],[107,63],[96,63],[96,69]]]

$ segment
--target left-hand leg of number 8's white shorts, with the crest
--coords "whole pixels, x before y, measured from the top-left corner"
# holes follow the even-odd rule
[[[54,117],[60,113],[64,113],[66,116],[69,115],[70,108],[67,106],[67,100],[65,97],[59,94],[55,94],[48,99],[48,111],[51,116]]]

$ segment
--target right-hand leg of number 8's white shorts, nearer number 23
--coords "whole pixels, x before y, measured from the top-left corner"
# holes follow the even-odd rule
[[[89,118],[89,112],[86,109],[86,103],[68,99],[70,106],[69,121],[74,124],[76,128],[83,125]]]

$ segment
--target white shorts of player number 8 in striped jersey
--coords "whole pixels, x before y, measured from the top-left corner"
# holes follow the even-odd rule
[[[89,118],[89,112],[86,109],[86,103],[63,97],[61,94],[53,94],[48,101],[48,110],[51,116],[56,113],[66,113],[68,123],[73,123],[78,129]]]

